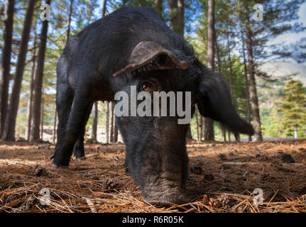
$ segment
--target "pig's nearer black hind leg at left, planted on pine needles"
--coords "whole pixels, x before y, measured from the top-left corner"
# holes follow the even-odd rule
[[[93,104],[89,94],[90,87],[87,84],[82,84],[82,86],[75,90],[75,98],[73,100],[62,143],[55,149],[53,168],[60,166],[67,167],[69,165],[73,148],[77,139],[80,138],[84,131],[84,125],[88,118],[88,111]]]

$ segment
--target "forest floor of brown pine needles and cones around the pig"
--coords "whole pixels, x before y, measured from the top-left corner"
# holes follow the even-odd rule
[[[124,171],[124,144],[85,145],[87,158],[67,170],[50,169],[53,149],[0,142],[0,212],[306,212],[306,140],[190,141],[193,201],[168,207],[144,201]]]

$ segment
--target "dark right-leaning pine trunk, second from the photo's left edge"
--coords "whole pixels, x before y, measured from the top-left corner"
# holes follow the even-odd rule
[[[15,126],[19,104],[19,96],[21,92],[21,82],[23,79],[23,71],[26,65],[26,53],[28,52],[28,40],[30,37],[31,23],[33,19],[33,11],[35,0],[28,1],[26,10],[26,17],[23,23],[23,31],[21,36],[21,45],[18,53],[18,60],[16,65],[16,73],[13,78],[13,89],[11,92],[11,99],[9,104],[8,114],[4,125],[4,133],[2,140],[14,141],[15,140]]]

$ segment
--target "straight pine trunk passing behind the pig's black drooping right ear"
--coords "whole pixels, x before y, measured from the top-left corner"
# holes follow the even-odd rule
[[[207,67],[214,71],[214,0],[208,0]],[[214,140],[214,121],[204,118],[204,140]]]

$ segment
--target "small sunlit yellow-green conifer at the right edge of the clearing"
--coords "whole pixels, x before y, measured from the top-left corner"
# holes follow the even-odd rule
[[[287,136],[298,138],[298,128],[306,123],[306,89],[299,80],[285,84],[285,97],[280,108],[283,112],[282,125]]]

